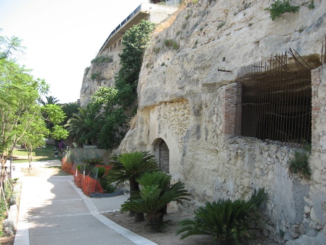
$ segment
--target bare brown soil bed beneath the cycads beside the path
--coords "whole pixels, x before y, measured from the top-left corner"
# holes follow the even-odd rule
[[[178,222],[186,218],[192,218],[193,214],[181,212],[168,214],[164,217],[165,227],[159,233],[152,233],[150,231],[150,226],[147,221],[140,223],[134,222],[134,217],[129,216],[129,212],[116,212],[116,213],[107,213],[104,214],[107,218],[113,222],[159,244],[159,245],[213,245],[213,241],[210,236],[205,235],[193,235],[189,236],[183,240],[180,240],[181,235],[176,235],[175,232],[180,228]],[[219,244],[219,243],[217,243]],[[234,244],[233,242],[226,244]],[[251,244],[251,245],[276,245],[277,242],[264,237],[259,232],[254,240],[242,242],[241,244]]]

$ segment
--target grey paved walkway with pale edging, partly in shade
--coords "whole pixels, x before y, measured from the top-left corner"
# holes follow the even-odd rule
[[[72,176],[24,177],[14,245],[156,244],[102,215],[127,198],[89,198]]]

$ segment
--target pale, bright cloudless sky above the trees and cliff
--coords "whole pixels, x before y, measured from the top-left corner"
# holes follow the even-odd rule
[[[79,99],[85,68],[144,0],[0,0],[0,36],[23,39],[18,60],[59,103]]]

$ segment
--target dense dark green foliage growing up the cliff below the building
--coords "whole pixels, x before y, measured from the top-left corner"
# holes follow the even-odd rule
[[[120,144],[127,131],[127,111],[137,97],[143,51],[153,27],[150,22],[142,20],[126,31],[122,41],[124,48],[119,54],[121,69],[115,77],[115,88],[100,87],[85,108],[72,114],[65,125],[70,142],[79,146],[92,144],[104,149]],[[92,60],[92,64],[102,62],[107,62],[104,56]],[[91,77],[96,78],[95,74]]]

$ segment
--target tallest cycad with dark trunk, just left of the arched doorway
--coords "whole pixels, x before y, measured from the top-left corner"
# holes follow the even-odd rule
[[[119,157],[113,158],[113,167],[109,171],[108,180],[111,182],[122,183],[129,180],[130,200],[138,197],[139,184],[136,181],[142,174],[158,170],[158,164],[154,156],[147,151],[136,151],[124,153]],[[130,212],[132,214],[132,212]],[[135,222],[144,220],[143,213],[136,213]]]

